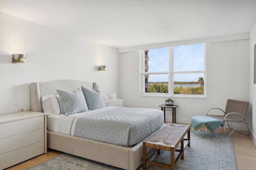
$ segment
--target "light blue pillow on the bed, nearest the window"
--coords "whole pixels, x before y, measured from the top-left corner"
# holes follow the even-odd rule
[[[95,86],[93,90],[84,86],[81,86],[81,88],[89,110],[106,107],[99,85]]]

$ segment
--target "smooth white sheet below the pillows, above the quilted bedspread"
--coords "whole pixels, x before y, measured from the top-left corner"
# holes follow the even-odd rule
[[[108,107],[102,107],[100,109],[94,109],[94,110],[76,113],[68,116],[66,116],[65,114],[60,114],[60,115],[50,114],[47,116],[47,129],[53,132],[64,133],[67,135],[74,135],[74,126],[72,126],[72,124],[75,125],[76,123],[75,121],[78,119],[78,117],[83,115],[100,113],[102,111],[109,111],[117,108],[118,107],[108,106]]]

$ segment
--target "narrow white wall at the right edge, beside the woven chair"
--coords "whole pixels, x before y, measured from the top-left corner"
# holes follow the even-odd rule
[[[256,44],[256,23],[250,31],[249,42],[249,91],[250,91],[250,129],[251,136],[256,145],[256,84],[254,84],[254,45]]]

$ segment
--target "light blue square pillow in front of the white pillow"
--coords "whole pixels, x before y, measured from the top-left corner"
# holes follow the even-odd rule
[[[86,101],[81,89],[75,91],[56,89],[60,95],[60,103],[66,115],[88,111]]]

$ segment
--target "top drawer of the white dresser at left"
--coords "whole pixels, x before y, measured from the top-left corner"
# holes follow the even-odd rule
[[[0,123],[0,139],[44,128],[44,115]]]

